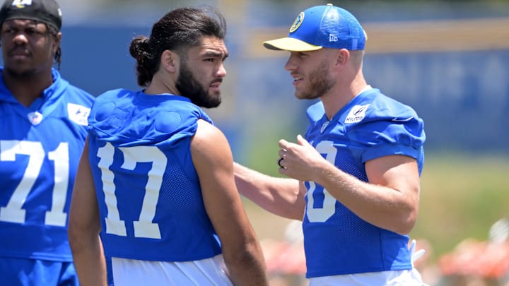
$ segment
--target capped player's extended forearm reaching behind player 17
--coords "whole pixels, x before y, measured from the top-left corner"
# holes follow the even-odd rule
[[[303,220],[304,198],[296,179],[271,177],[234,163],[235,184],[242,196],[283,218]]]

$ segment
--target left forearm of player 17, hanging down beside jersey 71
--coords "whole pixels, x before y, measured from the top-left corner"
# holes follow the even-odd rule
[[[86,243],[72,239],[71,251],[82,286],[107,285],[105,256],[99,236],[88,239]]]

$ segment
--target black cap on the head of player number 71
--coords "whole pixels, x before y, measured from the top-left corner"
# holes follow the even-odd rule
[[[60,30],[62,11],[54,0],[6,0],[0,9],[0,24],[6,20],[28,19]]]

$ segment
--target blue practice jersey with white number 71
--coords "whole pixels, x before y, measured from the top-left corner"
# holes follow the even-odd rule
[[[94,97],[52,73],[30,107],[0,77],[0,256],[72,261],[67,215]]]

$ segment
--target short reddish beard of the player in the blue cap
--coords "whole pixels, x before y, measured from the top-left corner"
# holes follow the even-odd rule
[[[296,90],[295,95],[300,100],[315,100],[329,92],[336,83],[327,73],[326,61],[322,61],[309,75],[308,87],[300,93]]]

